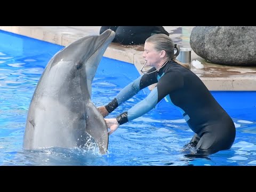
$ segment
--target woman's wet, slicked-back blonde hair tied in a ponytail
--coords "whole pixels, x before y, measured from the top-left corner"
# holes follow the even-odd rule
[[[177,56],[180,53],[180,47],[177,44],[174,44],[172,39],[165,34],[155,34],[146,39],[147,43],[153,43],[154,49],[156,51],[164,50],[167,55],[167,60],[177,62],[179,65],[190,69],[190,65],[188,63],[183,63],[177,60]],[[177,49],[177,52],[174,54],[174,49]]]

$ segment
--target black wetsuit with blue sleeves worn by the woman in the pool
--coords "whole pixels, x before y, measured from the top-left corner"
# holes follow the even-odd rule
[[[153,70],[155,68],[149,72]],[[135,79],[105,106],[106,109],[110,113],[154,83],[157,83],[156,87],[144,100],[116,117],[120,125],[146,114],[165,98],[180,109],[188,126],[195,132],[191,143],[197,153],[213,154],[231,148],[236,135],[233,120],[197,75],[173,61],[167,62],[158,73],[156,71]]]

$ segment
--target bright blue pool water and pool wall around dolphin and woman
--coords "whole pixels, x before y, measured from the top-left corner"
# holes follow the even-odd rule
[[[79,148],[22,149],[30,99],[44,67],[62,46],[0,31],[0,165],[256,165],[256,92],[212,92],[233,118],[236,139],[230,150],[187,157],[182,147],[193,132],[180,112],[163,100],[148,114],[121,125],[109,137],[106,155]],[[102,58],[92,83],[92,100],[106,105],[139,73],[130,63]],[[148,94],[123,103],[115,117]]]

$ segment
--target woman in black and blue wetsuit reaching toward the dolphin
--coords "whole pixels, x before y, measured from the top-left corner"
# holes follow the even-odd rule
[[[174,48],[177,49],[176,55]],[[146,114],[166,98],[180,109],[188,126],[195,132],[189,144],[197,149],[197,153],[214,154],[230,149],[236,135],[234,122],[189,66],[175,59],[179,46],[169,36],[156,34],[147,38],[144,49],[145,64],[152,68],[146,72],[141,70],[144,75],[124,87],[108,105],[98,109],[105,117],[140,90],[154,83],[157,85],[129,110],[116,118],[105,118],[109,134],[120,125]]]

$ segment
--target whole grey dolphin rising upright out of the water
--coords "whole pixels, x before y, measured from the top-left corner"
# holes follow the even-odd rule
[[[31,99],[23,149],[74,148],[96,141],[108,148],[108,129],[91,101],[92,81],[115,32],[85,36],[56,53],[47,63]]]

